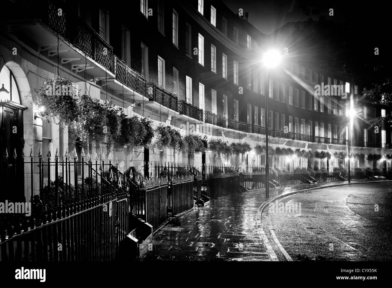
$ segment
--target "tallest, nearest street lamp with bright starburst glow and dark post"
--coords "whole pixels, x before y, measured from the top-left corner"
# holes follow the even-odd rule
[[[263,62],[265,64],[265,76],[267,78],[267,91],[265,93],[265,197],[269,198],[269,165],[268,165],[268,98],[269,98],[269,79],[268,79],[268,68],[274,68],[279,65],[281,56],[276,50],[269,50],[263,56]]]

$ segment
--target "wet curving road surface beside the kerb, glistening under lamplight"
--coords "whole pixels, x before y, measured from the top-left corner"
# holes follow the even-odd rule
[[[294,209],[267,206],[261,220],[279,260],[287,257],[274,234],[292,260],[392,259],[391,182],[317,189],[279,202]]]

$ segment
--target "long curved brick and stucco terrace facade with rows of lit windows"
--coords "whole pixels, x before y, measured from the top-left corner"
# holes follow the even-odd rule
[[[23,150],[25,157],[32,151],[33,157],[45,158],[57,150],[60,158],[74,151],[80,159],[84,150],[95,158],[117,159],[122,170],[142,169],[144,163],[154,161],[196,167],[265,163],[254,150],[239,156],[207,151],[203,156],[123,147],[109,156],[105,145],[98,149],[81,143],[66,127],[37,116],[40,107],[33,105],[31,90],[48,75],[72,80],[81,94],[112,101],[129,117],[150,117],[154,125],[176,127],[182,135],[194,126],[195,133],[209,139],[247,142],[251,147],[265,145],[268,133],[274,148],[346,152],[351,107],[356,116],[350,154],[365,155],[363,161],[352,158],[352,167],[390,167],[386,158],[367,161],[368,154],[392,154],[390,128],[376,131],[370,125],[372,118],[390,114],[390,107],[361,99],[361,79],[292,60],[290,53],[267,79],[261,59],[271,47],[271,36],[253,27],[245,11],[234,14],[218,0],[141,0],[126,5],[42,0],[6,6],[0,84],[9,96],[2,105],[2,155],[11,157],[15,151],[16,157],[22,157]],[[285,51],[284,43],[275,48]],[[347,94],[336,89],[327,95],[322,89],[326,85],[339,85]],[[265,111],[265,97],[269,111]],[[267,117],[269,127],[265,127]],[[14,126],[16,133],[12,133]],[[327,167],[326,160],[272,156],[269,161],[270,167],[277,168]],[[328,167],[346,164],[332,158]],[[27,166],[18,173],[24,174],[20,190],[29,198],[32,190],[39,190],[30,184],[30,178],[38,175]],[[42,177],[47,181],[48,175]]]

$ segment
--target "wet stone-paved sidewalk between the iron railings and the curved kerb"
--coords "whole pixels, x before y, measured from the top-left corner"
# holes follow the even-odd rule
[[[336,184],[342,182],[278,187],[270,189],[270,198],[294,190]],[[358,185],[353,185],[353,189],[356,186]],[[258,209],[266,200],[264,189],[260,189],[210,201],[197,211],[192,210],[181,216],[181,226],[167,225],[157,232],[153,237],[150,250],[145,249],[139,259],[142,261],[276,260],[275,253],[268,251],[270,246],[268,241],[263,241],[256,221]],[[278,257],[282,259],[279,252]]]

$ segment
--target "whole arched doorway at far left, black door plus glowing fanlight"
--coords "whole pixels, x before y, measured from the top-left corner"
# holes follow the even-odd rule
[[[18,83],[4,65],[0,71],[0,200],[24,202],[23,111]]]

